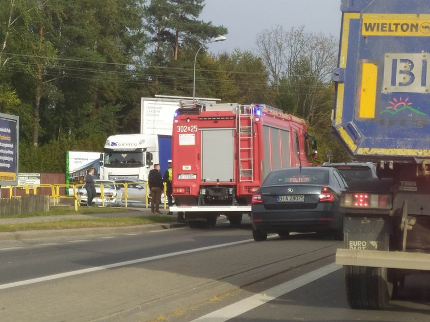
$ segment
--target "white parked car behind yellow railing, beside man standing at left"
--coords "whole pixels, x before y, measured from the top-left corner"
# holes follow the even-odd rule
[[[121,187],[113,180],[94,180],[95,184],[95,197],[93,203],[96,206],[121,206],[123,198],[123,191]],[[104,198],[101,198],[101,187],[103,187]],[[87,205],[87,190],[85,185],[79,186],[76,191],[76,196],[79,198],[79,203],[82,206]]]

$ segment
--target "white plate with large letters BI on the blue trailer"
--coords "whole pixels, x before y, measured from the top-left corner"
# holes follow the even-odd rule
[[[430,93],[430,54],[386,53],[383,93]]]

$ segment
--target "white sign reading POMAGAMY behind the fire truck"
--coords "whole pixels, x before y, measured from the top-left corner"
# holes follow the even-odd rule
[[[142,98],[140,133],[172,136],[173,116],[178,108],[178,101]]]

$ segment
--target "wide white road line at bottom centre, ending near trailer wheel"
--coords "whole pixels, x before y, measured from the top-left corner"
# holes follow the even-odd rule
[[[217,311],[213,311],[209,314],[203,315],[199,318],[192,320],[191,322],[225,322],[233,317],[250,311],[257,306],[263,305],[268,301],[271,301],[277,297],[294,291],[299,287],[309,284],[321,277],[336,272],[341,268],[342,266],[336,265],[335,263],[327,265],[325,267],[321,267],[315,271],[295,278],[294,280],[282,283],[261,293],[245,298],[239,302],[223,307]]]

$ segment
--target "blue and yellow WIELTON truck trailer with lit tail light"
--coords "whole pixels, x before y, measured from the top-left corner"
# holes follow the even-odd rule
[[[378,178],[341,196],[348,303],[384,309],[430,272],[430,1],[342,0],[332,126]],[[430,285],[429,285],[430,286]]]

